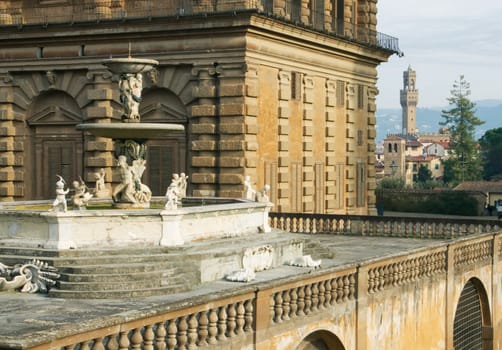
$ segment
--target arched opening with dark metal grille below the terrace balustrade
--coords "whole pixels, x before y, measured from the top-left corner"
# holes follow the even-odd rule
[[[453,346],[455,350],[492,349],[490,307],[481,281],[471,278],[464,286],[455,311]]]

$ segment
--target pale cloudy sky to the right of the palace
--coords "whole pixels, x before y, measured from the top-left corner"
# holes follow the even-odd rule
[[[378,68],[379,108],[400,108],[403,72],[417,73],[418,107],[446,107],[460,75],[472,101],[502,100],[501,0],[379,0],[377,30],[399,39],[403,57]]]

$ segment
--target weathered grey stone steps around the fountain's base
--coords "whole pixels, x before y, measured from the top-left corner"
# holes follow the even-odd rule
[[[213,264],[229,268],[242,260],[250,247],[269,244],[278,254],[288,247],[308,247],[305,254],[329,255],[317,241],[306,243],[286,233],[256,236],[254,239],[224,238],[193,242],[179,247],[125,247],[115,249],[47,250],[0,246],[0,262],[6,265],[39,259],[58,269],[61,275],[50,297],[109,299],[167,295],[188,291],[203,283],[202,269]],[[316,253],[311,253],[316,252]],[[277,265],[284,261],[276,258]],[[236,266],[236,269],[239,267]],[[227,273],[231,271],[226,271]],[[221,272],[220,272],[221,273]],[[222,278],[222,277],[219,277]],[[207,276],[205,277],[207,281]]]

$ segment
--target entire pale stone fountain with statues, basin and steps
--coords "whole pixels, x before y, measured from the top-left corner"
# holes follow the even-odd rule
[[[40,203],[2,203],[0,261],[14,265],[21,256],[35,256],[58,267],[62,280],[50,296],[121,298],[186,291],[226,275],[249,281],[255,272],[302,256],[303,239],[270,233],[269,187],[255,191],[249,177],[245,199],[206,198],[199,202],[210,205],[179,208],[188,177],[175,174],[165,205],[151,207],[151,191],[141,182],[146,141],[184,127],[140,123],[142,73],[157,61],[128,57],[103,64],[119,75],[122,122],[77,128],[114,142],[121,179],[111,194],[114,208],[83,210],[90,194],[80,179],[73,182],[73,204],[79,210],[67,210],[62,178],[52,210],[32,207]],[[95,174],[96,194],[103,192],[101,173]],[[37,268],[33,263],[22,266],[17,270]]]

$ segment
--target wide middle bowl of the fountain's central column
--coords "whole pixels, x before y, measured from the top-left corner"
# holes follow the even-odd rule
[[[78,124],[77,130],[88,131],[94,136],[114,140],[145,140],[153,137],[166,136],[173,131],[184,131],[180,124],[165,123],[89,123]]]

